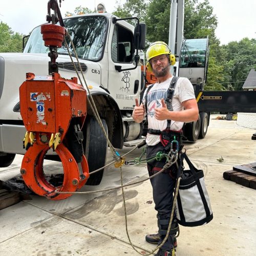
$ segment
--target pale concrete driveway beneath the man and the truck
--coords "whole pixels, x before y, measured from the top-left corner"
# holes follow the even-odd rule
[[[176,254],[256,255],[256,190],[223,179],[223,172],[234,165],[256,162],[255,130],[236,121],[214,120],[208,133],[195,143],[185,143],[193,163],[205,170],[205,181],[214,219],[200,227],[180,226]],[[124,148],[124,154],[131,148]],[[127,156],[132,160],[136,150]],[[110,155],[110,154],[109,154]],[[19,174],[23,156],[16,156],[8,168],[0,168],[0,180]],[[223,158],[223,162],[217,159]],[[110,158],[109,161],[112,159]],[[60,163],[45,161],[48,172]],[[147,177],[145,164],[123,166],[124,183]],[[105,170],[99,186],[84,186],[80,191],[95,191],[120,185],[120,171]],[[156,211],[150,181],[124,189],[128,230],[140,252],[155,248],[145,242],[145,234],[157,232]],[[139,255],[129,244],[125,231],[121,189],[108,193],[74,195],[62,201],[32,196],[0,210],[0,255]]]

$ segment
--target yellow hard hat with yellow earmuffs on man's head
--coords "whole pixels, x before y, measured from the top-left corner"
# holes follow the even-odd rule
[[[150,47],[148,47],[147,51],[146,51],[146,60],[147,60],[147,64],[146,67],[148,69],[148,71],[152,71],[152,66],[150,63],[150,60],[156,56],[162,55],[162,54],[167,54],[170,57],[170,65],[175,65],[176,63],[176,59],[174,54],[172,54],[170,52],[169,47],[167,46],[167,44],[163,41],[156,41],[153,42],[152,45],[150,45]]]

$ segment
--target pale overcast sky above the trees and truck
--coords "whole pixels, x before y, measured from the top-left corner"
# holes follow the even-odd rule
[[[118,3],[124,2],[118,0]],[[13,31],[27,35],[34,27],[45,23],[47,3],[48,0],[1,0],[0,21],[7,23]],[[108,12],[117,6],[117,0],[62,0],[60,11],[64,17],[67,11],[73,12],[78,6],[94,10],[99,3],[105,3]],[[256,38],[255,0],[209,0],[209,3],[218,18],[216,36],[222,45],[244,37]]]

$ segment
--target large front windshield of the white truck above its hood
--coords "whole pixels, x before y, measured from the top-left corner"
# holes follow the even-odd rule
[[[82,59],[100,60],[104,52],[107,23],[103,16],[81,16],[64,19],[65,27],[73,40],[77,55]],[[66,37],[69,50],[74,56],[71,42]],[[24,49],[25,53],[48,53],[49,48],[45,47],[42,40],[41,27],[35,28]],[[58,54],[68,55],[68,50],[63,42],[58,48]]]

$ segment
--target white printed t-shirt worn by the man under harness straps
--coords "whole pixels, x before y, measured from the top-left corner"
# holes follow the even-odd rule
[[[166,81],[161,83],[155,83],[147,94],[147,106],[145,106],[145,95],[148,89],[145,90],[143,95],[144,108],[147,107],[147,122],[148,129],[163,131],[167,127],[167,120],[157,120],[155,118],[155,108],[162,108],[161,99],[166,98],[167,89],[170,86],[173,76],[168,78]],[[176,82],[176,87],[173,96],[173,110],[182,111],[183,106],[181,103],[185,100],[195,99],[195,92],[191,82],[185,78],[180,77]],[[171,121],[170,130],[180,131],[182,129],[183,122]],[[160,142],[159,135],[147,134],[146,143],[147,145],[154,146]]]

